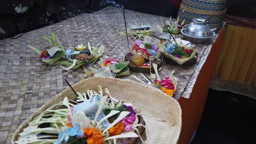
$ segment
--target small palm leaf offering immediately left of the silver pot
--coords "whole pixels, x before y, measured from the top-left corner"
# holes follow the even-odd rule
[[[164,22],[162,21],[162,23]],[[164,32],[168,33],[168,28],[172,34],[179,34],[182,28],[187,27],[187,25],[184,25],[184,23],[185,19],[182,21],[182,23],[179,23],[179,16],[177,17],[177,21],[173,21],[171,16],[169,20],[165,21]]]

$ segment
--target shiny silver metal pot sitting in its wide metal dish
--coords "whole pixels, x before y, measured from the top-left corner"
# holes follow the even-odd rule
[[[182,29],[184,38],[192,43],[207,43],[212,37],[215,36],[216,28],[211,29],[205,22],[205,19],[193,19],[187,28]]]

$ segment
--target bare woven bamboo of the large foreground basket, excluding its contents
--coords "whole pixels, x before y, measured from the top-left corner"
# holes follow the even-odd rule
[[[178,102],[172,97],[142,83],[109,77],[91,77],[76,83],[73,88],[76,92],[86,92],[87,89],[97,91],[98,85],[102,86],[102,88],[108,88],[112,97],[132,103],[134,106],[139,107],[142,113],[150,117],[142,115],[148,128],[146,143],[177,143],[181,132],[182,112]],[[75,98],[71,88],[67,88],[55,95],[54,98],[37,109],[15,131],[11,142],[14,143],[14,141],[18,140],[18,134],[27,127],[28,122],[31,122],[39,113],[53,104],[59,103],[65,97],[68,99]],[[166,120],[166,122],[156,121],[152,118]]]

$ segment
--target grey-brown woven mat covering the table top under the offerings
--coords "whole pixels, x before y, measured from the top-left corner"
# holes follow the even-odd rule
[[[155,22],[162,25],[159,16],[130,10],[126,10],[126,18],[129,23],[142,21],[151,25]],[[167,19],[167,17],[163,18]],[[26,118],[54,95],[68,87],[62,75],[67,77],[71,84],[80,81],[80,76],[85,76],[82,68],[65,71],[60,65],[42,64],[37,53],[27,47],[28,44],[40,48],[46,47],[49,43],[42,35],[49,35],[54,31],[66,48],[87,44],[88,41],[91,45],[96,45],[104,39],[102,41],[106,45],[104,55],[124,59],[129,50],[126,41],[117,32],[124,29],[121,9],[107,7],[96,13],[81,14],[54,25],[24,33],[15,39],[1,40],[0,143],[10,143],[11,136]],[[189,98],[197,75],[216,38],[217,36],[209,44],[195,46],[198,53],[197,64],[180,67],[164,63],[162,70],[159,71],[160,77],[167,77],[172,70],[176,70],[174,75],[179,78],[178,91],[174,95],[176,100],[179,97]],[[112,46],[114,46],[113,50],[110,49]],[[134,72],[132,74],[142,77]],[[124,79],[131,79],[131,77],[124,77]]]

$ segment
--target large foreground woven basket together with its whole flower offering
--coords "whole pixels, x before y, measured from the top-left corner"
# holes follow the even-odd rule
[[[57,94],[20,125],[11,142],[177,143],[181,107],[155,88],[109,77],[72,87],[78,96],[71,88]]]

